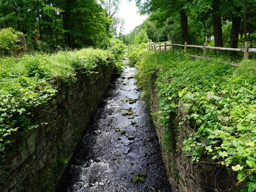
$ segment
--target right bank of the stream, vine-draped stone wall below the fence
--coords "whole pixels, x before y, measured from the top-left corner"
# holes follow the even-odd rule
[[[138,68],[173,190],[254,191],[255,62],[147,52]]]

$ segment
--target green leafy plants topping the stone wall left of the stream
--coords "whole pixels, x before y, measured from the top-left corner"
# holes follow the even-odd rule
[[[23,55],[19,59],[0,58],[0,151],[10,142],[9,135],[30,130],[34,107],[42,107],[58,92],[57,79],[71,84],[77,73],[91,75],[95,67],[107,65],[121,70],[125,47],[113,40],[109,50],[82,49],[57,54]],[[116,51],[116,46],[123,49]]]

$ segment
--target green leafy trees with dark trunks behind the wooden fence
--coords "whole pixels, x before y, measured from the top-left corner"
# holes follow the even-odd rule
[[[209,41],[214,36],[215,46],[237,47],[239,35],[244,44],[244,41],[253,40],[250,34],[256,29],[256,9],[252,0],[136,0],[135,2],[140,13],[148,14],[149,21],[154,23],[149,25],[149,22],[145,21],[142,24],[143,27],[150,29],[148,36],[154,42],[159,42],[159,37],[162,38],[164,35],[166,35],[165,41],[168,41],[167,35],[169,35],[175,43],[202,44],[202,41]],[[154,29],[153,26],[156,28]],[[154,31],[153,34],[157,35],[152,36],[151,29]],[[222,32],[222,29],[226,31]]]

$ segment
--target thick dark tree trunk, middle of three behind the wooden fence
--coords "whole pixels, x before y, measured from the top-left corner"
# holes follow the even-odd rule
[[[213,35],[214,35],[214,45],[217,47],[222,47],[222,25],[221,16],[219,13],[219,4],[214,2],[212,6],[212,25],[213,25]]]

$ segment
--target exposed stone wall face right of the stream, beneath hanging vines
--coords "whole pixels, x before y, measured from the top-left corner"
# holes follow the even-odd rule
[[[153,121],[172,191],[240,191],[235,182],[236,175],[227,172],[220,164],[211,163],[211,158],[207,155],[197,163],[183,154],[183,141],[189,137],[189,127],[183,126],[182,130],[177,127],[186,114],[172,114],[171,121],[166,126],[157,123],[159,103],[155,86],[156,78],[156,75],[152,78],[149,107],[154,114]]]

